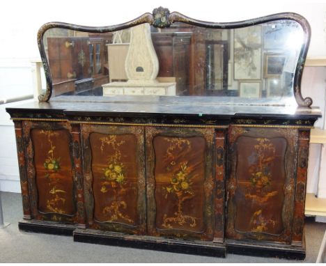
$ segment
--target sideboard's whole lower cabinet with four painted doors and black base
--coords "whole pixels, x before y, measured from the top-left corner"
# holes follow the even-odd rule
[[[22,230],[71,233],[68,224],[79,224],[75,240],[82,242],[134,247],[139,241],[139,247],[154,248],[163,237],[159,249],[169,250],[163,239],[170,237],[185,252],[192,252],[194,242],[199,253],[216,250],[211,256],[222,256],[227,247],[304,257],[306,160],[318,115],[170,120],[144,114],[130,120],[112,112],[95,116],[98,111],[71,116],[72,111],[41,106],[9,110],[20,155]],[[272,125],[262,124],[270,120]],[[60,177],[60,171],[63,179],[53,189],[45,175]],[[70,199],[46,210],[50,191]]]

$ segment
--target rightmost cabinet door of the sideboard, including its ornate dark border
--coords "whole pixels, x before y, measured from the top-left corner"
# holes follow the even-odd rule
[[[290,244],[297,129],[230,127],[226,237]]]

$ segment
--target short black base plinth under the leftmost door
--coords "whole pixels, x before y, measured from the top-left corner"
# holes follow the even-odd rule
[[[71,236],[76,226],[71,224],[54,224],[47,221],[23,220],[18,222],[18,228],[26,232]]]

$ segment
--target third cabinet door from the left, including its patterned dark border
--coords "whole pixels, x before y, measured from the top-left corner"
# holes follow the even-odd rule
[[[213,238],[214,130],[146,127],[148,233]]]

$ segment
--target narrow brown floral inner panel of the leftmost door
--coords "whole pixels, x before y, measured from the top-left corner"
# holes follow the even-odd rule
[[[67,130],[31,130],[38,210],[73,215],[73,180]]]

